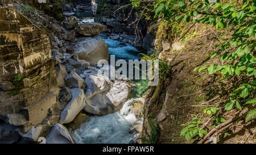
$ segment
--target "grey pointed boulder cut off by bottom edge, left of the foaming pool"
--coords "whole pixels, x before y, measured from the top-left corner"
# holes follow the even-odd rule
[[[55,124],[46,137],[46,144],[74,144],[68,129],[61,124]]]

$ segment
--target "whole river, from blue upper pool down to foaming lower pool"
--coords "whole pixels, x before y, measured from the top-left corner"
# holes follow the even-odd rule
[[[115,55],[115,60],[128,61],[140,60],[141,51],[121,41],[111,40],[102,35],[109,47],[109,55]],[[146,81],[134,81],[130,99],[123,105],[122,109],[114,114],[105,116],[91,116],[79,128],[72,131],[72,137],[76,143],[82,144],[128,144],[130,140],[138,136],[138,133],[129,133],[131,124],[142,122],[137,120],[131,110],[134,100],[142,100],[142,94],[147,89]]]

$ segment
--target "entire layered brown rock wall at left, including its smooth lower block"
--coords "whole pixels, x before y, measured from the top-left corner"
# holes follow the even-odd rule
[[[41,123],[56,103],[51,43],[12,5],[0,7],[0,12],[0,119],[22,112],[27,131]]]

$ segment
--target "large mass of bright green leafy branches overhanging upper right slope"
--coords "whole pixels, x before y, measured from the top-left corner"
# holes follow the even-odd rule
[[[164,19],[170,20],[175,16],[178,22],[197,22],[212,25],[216,28],[233,27],[232,38],[228,43],[221,46],[223,52],[214,53],[210,58],[220,56],[218,64],[205,65],[199,69],[207,70],[208,74],[221,73],[224,77],[238,76],[241,78],[253,77],[255,79],[255,49],[256,49],[256,2],[243,1],[243,5],[238,5],[236,1],[221,3],[216,0],[198,1],[156,1],[155,18],[160,14]],[[199,16],[200,15],[200,16]],[[236,107],[242,110],[242,103],[251,102],[251,97],[255,93],[255,80],[243,83],[237,88],[233,88],[229,102],[225,105],[225,110]],[[254,100],[255,102],[255,100]],[[209,110],[207,110],[209,112]]]

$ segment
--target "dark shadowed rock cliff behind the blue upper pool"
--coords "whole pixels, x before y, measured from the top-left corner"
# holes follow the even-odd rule
[[[121,40],[134,47],[143,48],[150,55],[155,41],[154,30],[147,32],[151,21],[142,18],[138,23],[139,32],[136,32],[134,25],[139,18],[138,11],[131,5],[120,9],[121,6],[129,3],[129,0],[92,0],[94,21],[108,27],[106,32],[110,33],[110,39]]]

